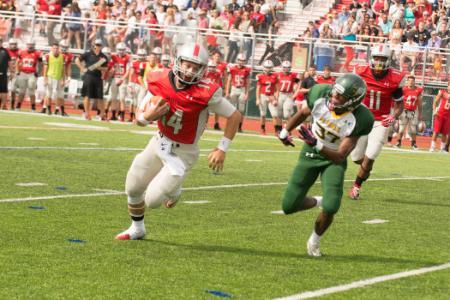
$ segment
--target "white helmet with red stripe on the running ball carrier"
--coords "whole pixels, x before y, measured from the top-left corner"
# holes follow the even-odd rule
[[[181,67],[183,61],[189,61],[199,66],[196,72],[184,70]],[[173,73],[180,82],[184,84],[198,83],[206,71],[208,65],[208,52],[203,46],[196,43],[187,43],[178,50],[175,64],[173,65]]]

